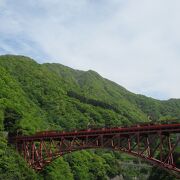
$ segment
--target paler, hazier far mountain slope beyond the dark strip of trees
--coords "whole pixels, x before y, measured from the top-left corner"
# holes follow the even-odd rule
[[[70,80],[72,85],[68,86],[67,89],[119,108],[128,109],[130,107],[128,109],[130,112],[133,110],[136,113],[141,113],[141,115],[144,114],[146,116],[143,117],[144,120],[147,120],[147,116],[151,116],[154,120],[180,117],[180,99],[160,101],[137,95],[110,80],[102,78],[91,70],[87,72],[77,71],[60,64],[44,64],[44,66],[52,72],[56,72],[66,82]]]

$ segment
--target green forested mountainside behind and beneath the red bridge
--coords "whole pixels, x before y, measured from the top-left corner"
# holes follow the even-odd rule
[[[160,101],[137,95],[92,70],[38,64],[24,56],[0,56],[2,136],[3,132],[15,135],[50,129],[70,131],[174,118],[180,118],[179,99]],[[143,174],[133,170],[127,173],[128,169],[119,167],[120,160],[133,158],[105,150],[67,155],[36,174],[7,146],[5,138],[0,143],[0,179],[6,174],[9,179],[78,180],[107,179],[119,174],[128,179]],[[7,155],[6,149],[13,153]]]

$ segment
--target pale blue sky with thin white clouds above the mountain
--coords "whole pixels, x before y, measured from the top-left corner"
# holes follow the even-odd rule
[[[93,69],[128,90],[180,98],[179,0],[0,0],[0,54]]]

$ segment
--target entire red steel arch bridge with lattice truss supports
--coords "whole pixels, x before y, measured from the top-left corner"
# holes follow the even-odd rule
[[[43,131],[30,136],[11,137],[9,140],[37,171],[67,153],[106,148],[142,158],[180,175],[180,167],[174,162],[175,158],[180,158],[177,150],[179,133],[180,123],[145,124],[73,132]]]

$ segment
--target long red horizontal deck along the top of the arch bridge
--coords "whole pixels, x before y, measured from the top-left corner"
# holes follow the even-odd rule
[[[12,137],[11,140],[22,141],[22,140],[38,140],[43,138],[59,138],[59,137],[85,137],[85,136],[97,136],[97,135],[114,135],[114,134],[156,134],[157,131],[162,133],[180,133],[180,123],[177,124],[155,124],[145,126],[131,126],[131,127],[116,127],[116,128],[100,128],[100,129],[87,129],[72,132],[60,132],[60,131],[43,131],[37,132],[31,136],[16,136]]]

